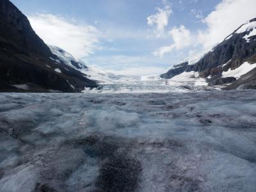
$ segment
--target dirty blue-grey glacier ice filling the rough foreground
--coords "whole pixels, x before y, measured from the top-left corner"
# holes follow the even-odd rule
[[[1,93],[0,191],[256,191],[256,92]]]

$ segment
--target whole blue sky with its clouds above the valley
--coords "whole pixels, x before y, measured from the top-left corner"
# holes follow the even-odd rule
[[[11,0],[49,45],[124,75],[161,74],[256,17],[255,0]]]

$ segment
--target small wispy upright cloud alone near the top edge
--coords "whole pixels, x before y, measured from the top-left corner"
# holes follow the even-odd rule
[[[171,6],[166,1],[163,1],[163,4],[164,8],[156,8],[157,13],[147,18],[148,26],[156,28],[154,33],[157,37],[164,35],[164,28],[168,25],[169,17],[172,14]]]

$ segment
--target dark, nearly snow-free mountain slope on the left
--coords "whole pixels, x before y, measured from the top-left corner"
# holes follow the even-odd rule
[[[0,92],[82,92],[98,86],[56,60],[28,18],[9,0],[0,0]]]

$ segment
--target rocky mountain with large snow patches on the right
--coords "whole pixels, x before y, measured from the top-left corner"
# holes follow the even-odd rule
[[[227,90],[256,88],[256,18],[242,24],[198,58],[174,65],[160,77],[186,76],[188,81],[203,78],[209,86],[225,85]]]

